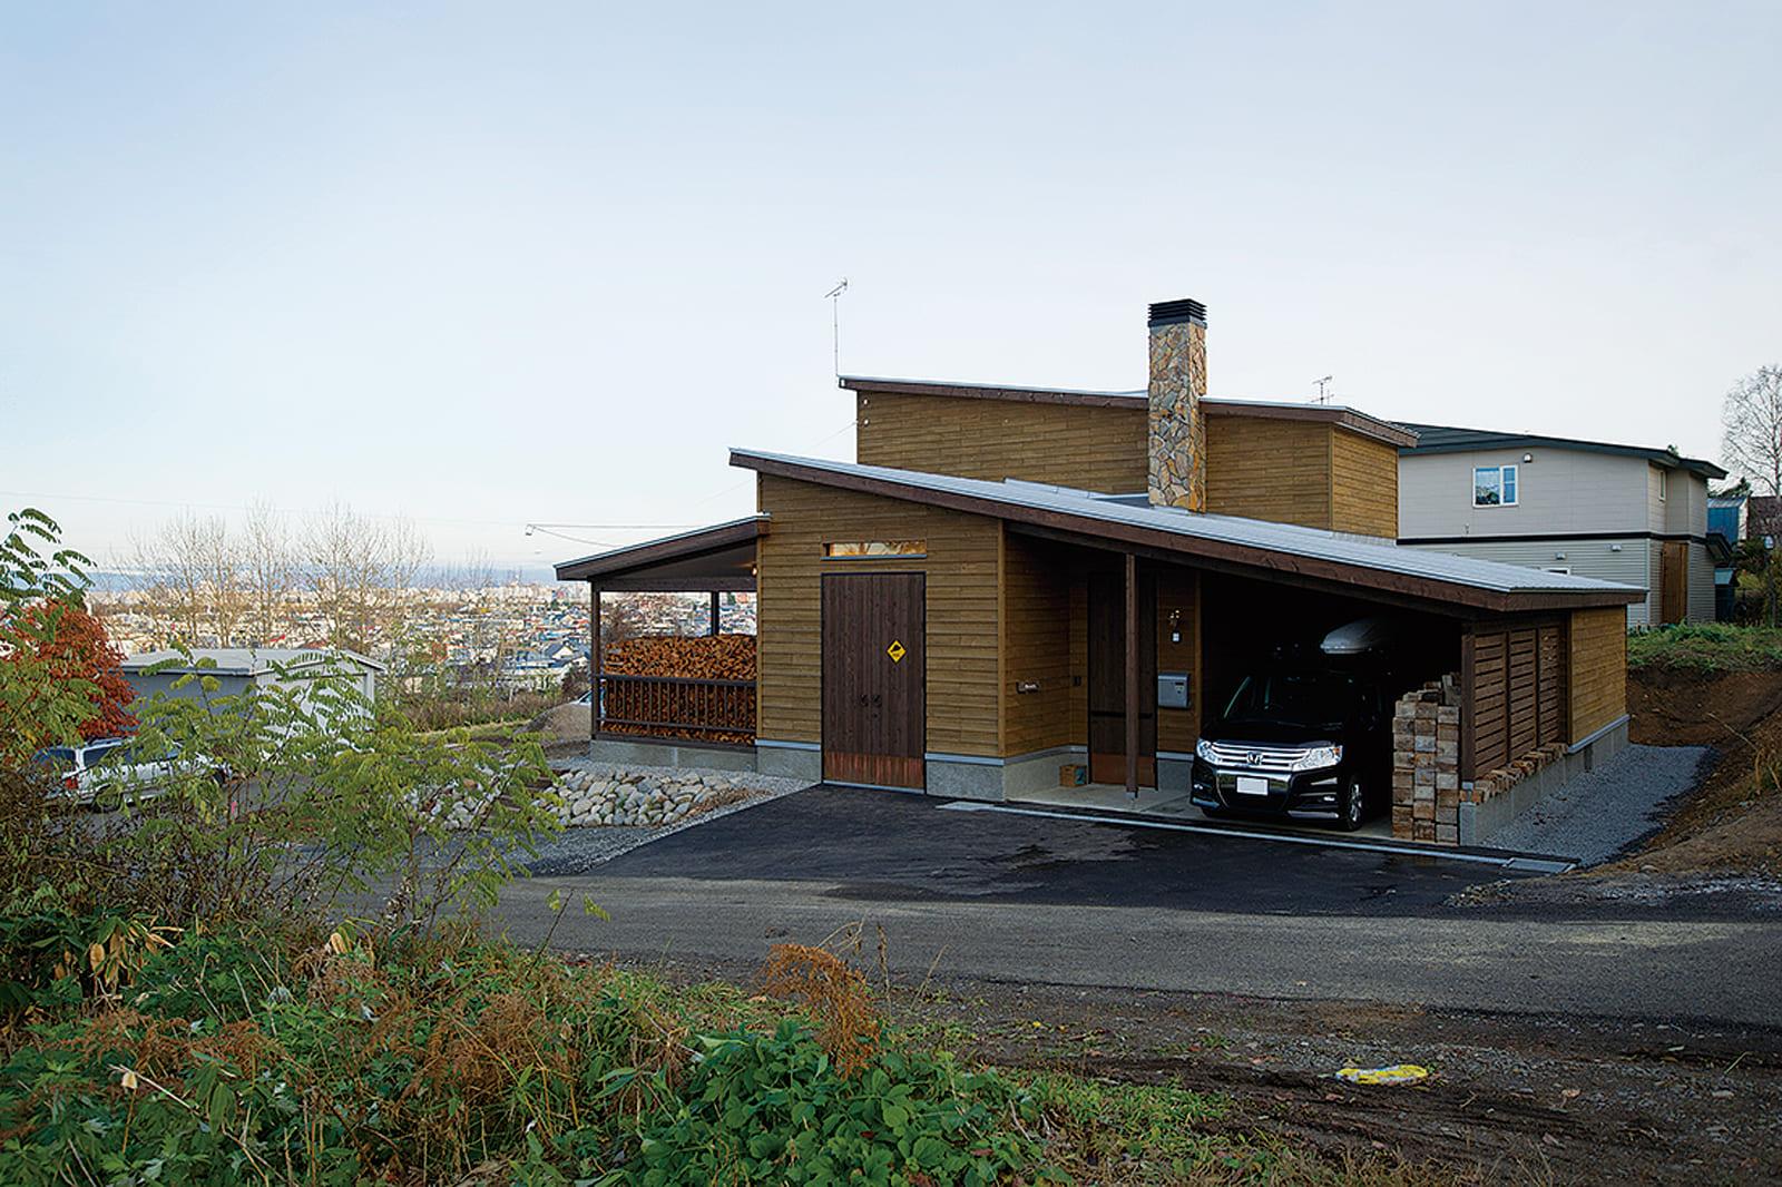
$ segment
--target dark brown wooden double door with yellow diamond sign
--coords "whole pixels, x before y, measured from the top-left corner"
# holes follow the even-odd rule
[[[925,786],[925,642],[923,574],[823,577],[823,779]]]

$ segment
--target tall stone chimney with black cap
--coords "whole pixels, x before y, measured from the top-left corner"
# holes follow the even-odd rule
[[[1146,494],[1151,506],[1206,510],[1206,307],[1151,307],[1151,421]]]

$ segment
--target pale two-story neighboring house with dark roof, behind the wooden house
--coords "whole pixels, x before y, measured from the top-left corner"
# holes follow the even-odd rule
[[[1399,544],[1638,586],[1629,627],[1714,620],[1707,483],[1670,449],[1404,424]]]

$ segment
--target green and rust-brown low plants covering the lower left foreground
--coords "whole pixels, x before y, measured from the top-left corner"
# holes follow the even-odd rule
[[[788,950],[756,987],[832,968]],[[1231,1132],[1169,1084],[966,1066],[845,996],[789,1011],[472,930],[191,929],[128,984],[64,977],[7,1036],[0,1182],[1452,1182]]]

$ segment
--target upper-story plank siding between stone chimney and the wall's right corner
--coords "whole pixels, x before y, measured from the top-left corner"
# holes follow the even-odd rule
[[[1206,510],[1303,528],[1331,526],[1331,426],[1206,417]]]

